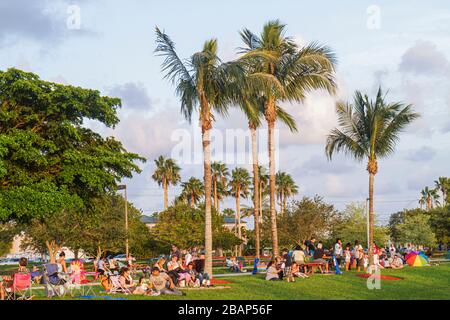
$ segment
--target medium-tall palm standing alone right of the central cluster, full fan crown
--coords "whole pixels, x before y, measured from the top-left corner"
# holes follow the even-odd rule
[[[373,187],[378,172],[378,159],[394,153],[399,134],[419,117],[411,105],[400,102],[387,103],[381,88],[375,101],[356,91],[354,104],[339,102],[336,105],[340,128],[333,129],[327,138],[326,154],[331,160],[335,152],[342,151],[358,161],[367,159],[369,172],[369,253],[372,259],[373,244]]]

